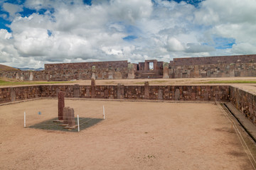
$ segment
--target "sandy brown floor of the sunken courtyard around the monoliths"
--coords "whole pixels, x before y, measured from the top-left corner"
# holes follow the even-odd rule
[[[23,128],[57,116],[55,99],[0,106],[0,169],[252,169],[235,130],[213,103],[66,100],[81,132]],[[41,115],[38,115],[41,111]]]

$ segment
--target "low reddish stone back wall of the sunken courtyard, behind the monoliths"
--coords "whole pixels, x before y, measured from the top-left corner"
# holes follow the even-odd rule
[[[166,101],[229,100],[229,86],[79,86],[40,85],[0,88],[0,103],[29,98],[57,97],[64,91],[68,98],[149,99]]]

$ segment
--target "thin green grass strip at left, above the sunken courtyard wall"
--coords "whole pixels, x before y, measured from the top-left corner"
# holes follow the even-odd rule
[[[33,85],[33,84],[63,84],[77,83],[78,81],[4,81],[0,79],[0,86],[18,86],[18,85]]]

